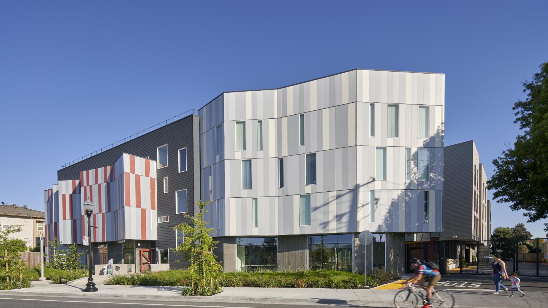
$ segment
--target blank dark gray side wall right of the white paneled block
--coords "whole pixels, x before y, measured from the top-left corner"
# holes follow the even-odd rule
[[[472,238],[473,141],[443,149],[443,232],[440,241]]]

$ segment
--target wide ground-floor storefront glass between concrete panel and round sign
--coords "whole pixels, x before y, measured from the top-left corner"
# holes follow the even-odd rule
[[[352,235],[331,234],[309,236],[309,267],[311,270],[352,271]]]

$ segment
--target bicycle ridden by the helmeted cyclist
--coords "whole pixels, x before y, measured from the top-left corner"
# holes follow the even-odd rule
[[[404,284],[404,283],[403,283]],[[396,308],[403,307],[418,307],[419,297],[422,299],[421,302],[426,300],[426,294],[423,292],[417,291],[415,288],[420,287],[419,284],[412,284],[411,287],[403,290],[399,290],[394,296],[394,306]],[[447,290],[432,290],[432,307],[440,308],[453,308],[455,305],[455,296]]]

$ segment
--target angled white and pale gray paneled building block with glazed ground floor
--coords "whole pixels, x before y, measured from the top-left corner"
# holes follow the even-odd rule
[[[401,273],[406,233],[444,231],[443,74],[351,70],[225,92],[199,116],[225,271],[363,271],[369,230],[368,267]]]

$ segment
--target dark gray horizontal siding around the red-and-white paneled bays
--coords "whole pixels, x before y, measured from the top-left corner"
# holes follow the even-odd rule
[[[187,190],[188,215],[194,215],[197,207],[193,202],[200,196],[199,180],[199,117],[187,116],[150,133],[139,136],[124,144],[113,147],[98,155],[84,159],[72,166],[58,170],[58,180],[73,180],[80,178],[82,170],[89,170],[114,164],[123,153],[129,153],[140,157],[149,157],[156,161],[157,147],[168,145],[168,167],[157,170],[157,203],[158,217],[169,216],[167,223],[158,224],[159,249],[175,247],[175,231],[173,227],[180,223],[190,223],[183,214],[175,214],[175,191]],[[186,147],[185,172],[179,173],[179,149]],[[168,177],[168,192],[164,193],[163,179]],[[184,267],[176,260],[181,259],[173,251],[169,252],[169,264],[172,268]]]

